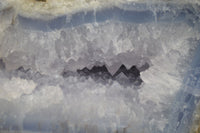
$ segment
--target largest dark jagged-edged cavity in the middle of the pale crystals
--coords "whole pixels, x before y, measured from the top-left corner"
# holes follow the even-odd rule
[[[136,66],[132,66],[130,69],[127,69],[125,65],[121,65],[115,74],[111,74],[105,65],[102,66],[93,66],[91,69],[84,67],[83,69],[78,69],[76,72],[65,71],[62,73],[63,77],[69,76],[82,76],[86,79],[91,77],[95,81],[100,81],[107,83],[109,80],[118,81],[122,85],[136,85],[139,86],[142,84],[142,79],[140,78],[140,71],[148,69],[149,65],[145,64],[139,70]]]

